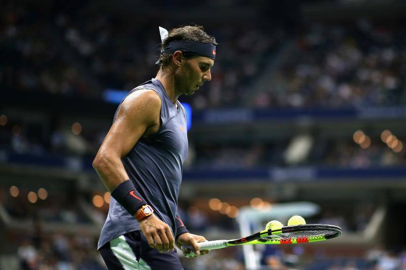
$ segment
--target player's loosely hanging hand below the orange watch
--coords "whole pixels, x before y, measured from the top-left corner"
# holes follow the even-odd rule
[[[168,252],[175,249],[175,239],[171,228],[154,214],[141,220],[140,228],[151,248],[156,248],[159,252]]]

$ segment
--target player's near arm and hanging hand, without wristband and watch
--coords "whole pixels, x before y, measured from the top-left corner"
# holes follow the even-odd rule
[[[121,159],[140,138],[159,128],[160,107],[161,100],[153,90],[135,91],[121,104],[116,120],[93,161],[93,168],[112,194],[117,187],[120,189],[120,186],[131,184],[127,181],[129,177]],[[120,199],[125,201],[128,198]],[[171,228],[155,215],[142,220],[140,227],[152,248],[160,252],[174,249]]]

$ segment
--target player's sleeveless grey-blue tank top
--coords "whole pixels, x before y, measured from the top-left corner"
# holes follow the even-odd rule
[[[162,124],[157,133],[141,138],[122,159],[122,163],[134,186],[154,209],[155,215],[168,224],[176,235],[175,217],[178,213],[182,167],[188,152],[185,109],[179,101],[172,103],[163,85],[156,79],[134,88],[127,96],[139,89],[152,89],[160,97]],[[111,197],[109,214],[101,229],[97,249],[123,234],[139,229],[138,221]]]

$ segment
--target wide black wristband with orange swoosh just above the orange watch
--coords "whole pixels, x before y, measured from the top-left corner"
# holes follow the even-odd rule
[[[111,196],[132,216],[147,202],[141,197],[131,180],[120,183],[111,192]]]

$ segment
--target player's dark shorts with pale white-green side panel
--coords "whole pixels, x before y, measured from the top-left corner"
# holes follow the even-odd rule
[[[148,245],[140,230],[113,239],[99,251],[109,270],[183,270],[176,250],[159,253]]]

